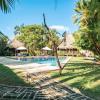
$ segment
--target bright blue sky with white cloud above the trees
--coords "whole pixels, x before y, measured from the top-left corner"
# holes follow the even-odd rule
[[[15,0],[16,1],[16,0]],[[55,3],[56,1],[56,3]],[[77,26],[73,24],[72,17],[77,0],[19,0],[11,13],[0,11],[0,31],[10,39],[14,38],[16,25],[42,24],[43,13],[46,22],[52,29],[63,33],[73,33]],[[56,4],[56,5],[55,5]]]

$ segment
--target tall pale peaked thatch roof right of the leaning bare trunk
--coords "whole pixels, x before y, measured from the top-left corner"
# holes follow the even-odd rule
[[[58,46],[58,49],[76,49],[74,42],[75,39],[73,35],[65,33],[61,44]]]

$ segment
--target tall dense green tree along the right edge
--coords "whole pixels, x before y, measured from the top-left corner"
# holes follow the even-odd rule
[[[79,25],[79,45],[100,55],[100,1],[79,0],[75,11],[75,23]]]

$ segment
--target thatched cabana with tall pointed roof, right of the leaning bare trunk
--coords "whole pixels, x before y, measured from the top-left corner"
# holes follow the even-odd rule
[[[77,56],[78,55],[78,49],[74,45],[75,40],[72,34],[64,34],[64,38],[61,42],[61,44],[58,46],[59,51],[64,51],[65,55],[69,56]]]

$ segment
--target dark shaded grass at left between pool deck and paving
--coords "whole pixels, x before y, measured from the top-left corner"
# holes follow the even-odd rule
[[[28,86],[20,74],[20,72],[15,73],[12,69],[0,64],[0,84]]]

